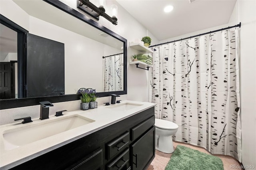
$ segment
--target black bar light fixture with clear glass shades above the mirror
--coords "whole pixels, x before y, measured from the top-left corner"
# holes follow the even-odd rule
[[[99,20],[99,16],[102,16],[109,20],[112,24],[117,25],[117,6],[112,5],[111,10],[112,10],[112,17],[110,17],[108,14],[105,13],[105,0],[99,0],[100,6],[97,7],[92,2],[89,0],[77,0],[77,8],[85,12],[86,14],[89,14],[96,20]]]

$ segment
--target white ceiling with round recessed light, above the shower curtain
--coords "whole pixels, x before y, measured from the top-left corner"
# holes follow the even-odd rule
[[[227,24],[236,0],[116,0],[158,40]],[[167,5],[174,6],[170,13]]]

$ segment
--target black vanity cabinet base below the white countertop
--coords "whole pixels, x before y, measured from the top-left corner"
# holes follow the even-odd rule
[[[12,170],[144,170],[155,156],[154,107]]]

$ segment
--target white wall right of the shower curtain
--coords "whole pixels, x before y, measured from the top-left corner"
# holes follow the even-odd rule
[[[238,0],[242,163],[256,168],[256,1]],[[246,168],[249,169],[249,168]]]

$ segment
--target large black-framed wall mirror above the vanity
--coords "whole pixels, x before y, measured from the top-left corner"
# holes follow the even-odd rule
[[[13,1],[29,15],[29,30],[19,37],[1,15],[1,75],[10,75],[1,83],[11,89],[1,85],[0,109],[78,100],[80,88],[99,97],[127,93],[126,39],[58,0]],[[19,38],[27,41],[24,49]]]

